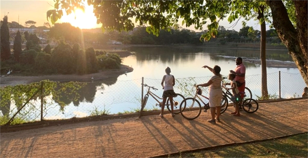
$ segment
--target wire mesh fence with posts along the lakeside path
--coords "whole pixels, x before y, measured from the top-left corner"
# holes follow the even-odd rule
[[[174,91],[182,94],[185,98],[191,97],[195,92],[193,85],[206,83],[210,78],[211,76],[178,78]],[[245,80],[246,87],[251,90],[253,99],[258,99],[262,95],[261,75],[249,75],[245,77]],[[229,81],[225,79],[225,82]],[[157,88],[158,90],[151,91],[159,97],[162,96],[161,79],[149,78],[88,82],[79,88],[72,85],[67,87],[58,85],[52,93],[47,93],[47,88],[50,88],[47,84],[44,84],[42,89],[40,84],[34,84],[31,91],[39,90],[39,93],[33,96],[25,95],[26,92],[24,95],[20,95],[19,92],[19,95],[15,95],[15,92],[6,91],[4,88],[8,87],[4,87],[1,88],[1,125],[8,123],[14,114],[16,116],[9,124],[138,112],[141,108],[142,95],[147,92],[146,87],[142,92],[141,83]],[[306,87],[306,83],[299,73],[270,73],[267,74],[267,83],[271,99],[302,97],[303,88]],[[203,95],[208,96],[208,87],[201,88]],[[5,96],[9,96],[9,99],[3,100]],[[26,103],[28,100],[29,102]],[[150,97],[145,109],[160,109],[156,105],[158,105],[156,100]]]

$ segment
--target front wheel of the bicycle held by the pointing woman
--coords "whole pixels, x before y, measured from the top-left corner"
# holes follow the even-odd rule
[[[180,113],[185,119],[194,120],[201,114],[201,104],[197,99],[186,98],[180,104]]]

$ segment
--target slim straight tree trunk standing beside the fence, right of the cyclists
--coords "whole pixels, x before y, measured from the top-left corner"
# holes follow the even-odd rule
[[[266,71],[266,26],[264,21],[264,6],[260,6],[258,9],[258,20],[262,20],[261,23],[261,41],[260,41],[260,59],[261,59],[261,71],[262,71],[262,97],[267,98],[268,97],[268,91],[267,91],[267,71]]]

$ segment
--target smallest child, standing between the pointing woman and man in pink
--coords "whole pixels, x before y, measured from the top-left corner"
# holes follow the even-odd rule
[[[237,85],[236,85],[236,82],[235,82],[235,74],[231,73],[229,74],[229,80],[231,80],[231,88],[227,88],[228,90],[229,89],[232,89],[232,92],[233,92],[233,97],[231,98],[233,103],[235,104],[235,111],[232,112],[231,114],[233,114],[233,116],[240,116],[240,106],[238,105],[238,99],[240,99],[240,95],[239,95],[239,90],[237,89]]]

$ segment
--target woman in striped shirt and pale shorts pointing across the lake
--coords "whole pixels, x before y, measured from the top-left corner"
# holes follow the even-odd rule
[[[198,84],[197,87],[209,86],[209,105],[211,109],[212,119],[208,121],[210,123],[216,124],[216,121],[220,122],[219,115],[221,109],[220,103],[222,98],[221,75],[220,75],[221,68],[217,65],[215,65],[214,68],[205,65],[203,66],[203,68],[208,68],[210,71],[214,73],[214,75],[211,77],[208,83]],[[215,119],[215,113],[217,114],[216,119]]]

